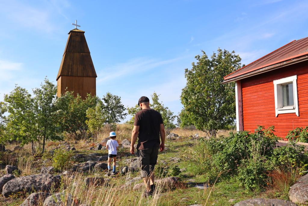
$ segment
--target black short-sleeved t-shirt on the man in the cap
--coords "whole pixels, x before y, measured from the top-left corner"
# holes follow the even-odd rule
[[[163,118],[154,109],[143,109],[136,113],[134,126],[140,126],[137,149],[159,147],[160,124],[164,124]]]

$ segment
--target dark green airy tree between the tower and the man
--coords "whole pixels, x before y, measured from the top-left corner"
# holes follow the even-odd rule
[[[109,129],[112,129],[112,125],[119,123],[121,120],[124,120],[126,117],[125,107],[121,102],[121,98],[116,95],[112,95],[110,92],[107,92],[106,95],[102,98],[103,104],[103,113],[105,114],[105,124],[106,126],[111,126]]]

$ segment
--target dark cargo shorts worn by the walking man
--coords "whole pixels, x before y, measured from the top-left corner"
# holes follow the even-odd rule
[[[157,162],[159,147],[151,149],[137,149],[137,164],[141,170],[141,177],[150,176]]]

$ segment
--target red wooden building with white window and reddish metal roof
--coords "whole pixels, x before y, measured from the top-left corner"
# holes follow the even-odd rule
[[[308,37],[224,77],[235,82],[237,131],[275,126],[278,137],[308,126]]]

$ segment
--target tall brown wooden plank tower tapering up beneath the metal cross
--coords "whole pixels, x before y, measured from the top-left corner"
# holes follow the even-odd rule
[[[96,95],[96,77],[84,31],[71,30],[57,76],[57,96],[66,91],[74,91],[74,96],[79,94],[83,99],[87,94]]]

